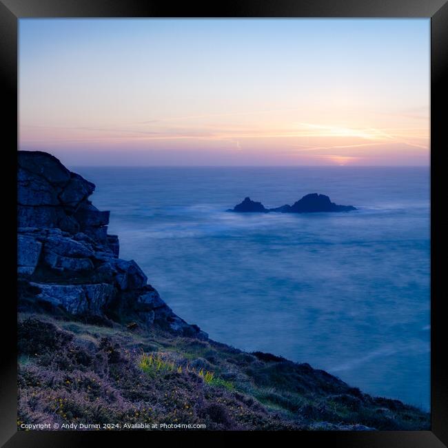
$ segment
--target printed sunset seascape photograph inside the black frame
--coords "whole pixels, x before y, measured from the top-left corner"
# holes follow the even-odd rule
[[[19,19],[19,431],[430,429],[430,19]]]

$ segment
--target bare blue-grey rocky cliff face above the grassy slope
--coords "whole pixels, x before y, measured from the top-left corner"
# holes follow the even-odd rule
[[[119,258],[110,212],[89,201],[95,185],[45,152],[20,151],[17,192],[19,308],[157,325],[207,338],[163,302],[135,261]]]

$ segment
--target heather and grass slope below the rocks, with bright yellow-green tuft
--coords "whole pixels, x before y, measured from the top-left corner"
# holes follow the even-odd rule
[[[142,358],[143,353],[154,354]],[[324,371],[154,328],[19,314],[19,425],[205,423],[207,429],[428,429],[429,414]],[[150,362],[148,360],[150,359]]]

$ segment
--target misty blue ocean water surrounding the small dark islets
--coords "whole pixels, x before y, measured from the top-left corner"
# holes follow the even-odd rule
[[[120,256],[210,338],[429,410],[428,167],[71,167]],[[236,214],[327,194],[355,212]]]

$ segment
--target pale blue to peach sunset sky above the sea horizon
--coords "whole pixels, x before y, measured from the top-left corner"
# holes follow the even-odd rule
[[[19,149],[429,165],[429,19],[20,19]]]

